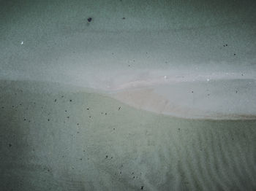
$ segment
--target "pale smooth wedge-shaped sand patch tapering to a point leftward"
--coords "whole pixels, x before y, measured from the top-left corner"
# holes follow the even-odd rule
[[[254,79],[166,82],[110,93],[119,101],[151,112],[193,119],[256,119]],[[134,85],[136,85],[134,83]]]

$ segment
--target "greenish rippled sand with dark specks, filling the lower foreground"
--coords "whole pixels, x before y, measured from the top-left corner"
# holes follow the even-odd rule
[[[255,120],[189,120],[1,81],[1,190],[255,190]]]

